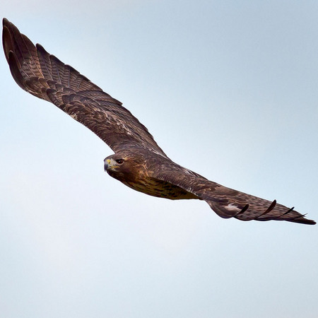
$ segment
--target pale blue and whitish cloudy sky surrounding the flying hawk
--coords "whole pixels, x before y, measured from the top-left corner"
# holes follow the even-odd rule
[[[177,163],[318,220],[317,1],[5,0],[1,16]],[[108,177],[112,153],[1,54],[1,317],[318,317],[318,227],[223,220]]]

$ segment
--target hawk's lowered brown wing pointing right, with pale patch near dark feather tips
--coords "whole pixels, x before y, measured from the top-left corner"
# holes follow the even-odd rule
[[[221,218],[237,218],[239,220],[286,220],[295,223],[316,224],[307,220],[293,208],[277,204],[276,200],[268,201],[257,196],[223,187],[200,175],[175,165],[170,169],[153,173],[155,179],[180,187],[202,199]]]

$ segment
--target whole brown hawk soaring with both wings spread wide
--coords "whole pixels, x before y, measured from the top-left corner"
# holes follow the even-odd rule
[[[104,160],[105,171],[131,189],[165,199],[204,200],[221,218],[316,224],[276,200],[223,187],[177,165],[122,102],[49,54],[42,45],[33,45],[6,18],[2,40],[18,86],[52,102],[105,141],[114,151]]]

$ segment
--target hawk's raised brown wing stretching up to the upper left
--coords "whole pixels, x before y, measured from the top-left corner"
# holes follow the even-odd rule
[[[139,146],[166,156],[148,129],[121,102],[47,53],[41,45],[33,45],[6,18],[3,25],[4,53],[20,88],[53,102],[97,134],[114,152]]]

